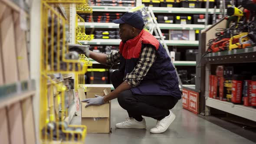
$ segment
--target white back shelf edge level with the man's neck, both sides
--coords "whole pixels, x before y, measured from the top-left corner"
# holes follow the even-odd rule
[[[92,39],[91,41],[79,40],[83,45],[119,45],[121,39]],[[198,46],[198,41],[190,40],[165,40],[167,46]]]

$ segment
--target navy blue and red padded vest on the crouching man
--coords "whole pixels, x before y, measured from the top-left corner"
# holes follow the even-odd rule
[[[119,52],[121,61],[119,70],[127,73],[137,65],[141,49],[147,45],[152,45],[156,49],[157,59],[149,69],[147,75],[140,84],[131,91],[137,95],[170,95],[181,99],[181,91],[177,79],[176,71],[171,64],[171,58],[158,40],[145,30],[134,39],[126,43],[120,43]]]

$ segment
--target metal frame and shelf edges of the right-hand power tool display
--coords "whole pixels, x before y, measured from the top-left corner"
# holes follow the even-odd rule
[[[214,38],[217,28],[223,28],[226,26],[226,20],[224,18],[208,29],[202,31],[200,36],[200,52],[199,56],[202,56],[207,51],[207,42],[209,39]],[[256,121],[256,109],[252,107],[246,107],[243,105],[234,105],[228,101],[220,101],[209,97],[209,75],[213,64],[235,64],[235,63],[247,63],[256,62],[256,47],[250,47],[246,49],[233,49],[223,52],[208,53],[202,58],[200,67],[197,67],[197,72],[200,75],[196,79],[196,89],[200,89],[200,114],[210,115],[210,108],[216,108],[227,113],[240,116],[252,121]]]

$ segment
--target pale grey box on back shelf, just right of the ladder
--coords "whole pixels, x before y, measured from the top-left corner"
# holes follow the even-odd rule
[[[173,30],[170,31],[170,40],[195,40],[194,30]]]

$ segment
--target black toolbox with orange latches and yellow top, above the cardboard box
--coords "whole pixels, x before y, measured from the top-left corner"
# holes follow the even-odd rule
[[[86,75],[90,84],[108,83],[108,69],[87,69]]]

